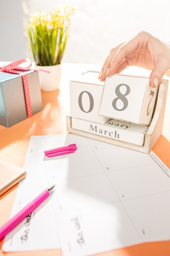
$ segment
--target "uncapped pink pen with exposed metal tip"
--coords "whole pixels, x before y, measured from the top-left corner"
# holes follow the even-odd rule
[[[40,195],[38,195],[32,202],[27,204],[21,211],[19,211],[13,218],[5,223],[0,228],[0,240],[4,238],[14,227],[16,227],[27,215],[29,215],[35,208],[38,207],[51,193],[55,185],[45,189]]]

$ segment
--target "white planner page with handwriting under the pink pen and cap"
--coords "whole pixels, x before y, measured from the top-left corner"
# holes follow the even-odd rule
[[[75,153],[44,156],[73,143]],[[4,251],[87,256],[170,239],[170,170],[153,152],[73,134],[33,136],[24,169],[12,216],[48,186],[55,191],[6,236]]]

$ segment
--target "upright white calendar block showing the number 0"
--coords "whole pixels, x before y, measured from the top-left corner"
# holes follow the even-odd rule
[[[86,72],[76,81],[70,81],[71,117],[105,124],[107,117],[99,116],[104,83],[98,72]]]

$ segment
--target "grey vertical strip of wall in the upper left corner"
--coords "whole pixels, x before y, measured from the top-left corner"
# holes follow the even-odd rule
[[[0,0],[0,61],[25,56],[20,0]]]

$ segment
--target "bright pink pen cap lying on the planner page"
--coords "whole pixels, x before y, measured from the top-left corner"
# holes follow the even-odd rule
[[[46,157],[55,157],[58,155],[66,155],[66,154],[74,153],[75,150],[77,150],[76,144],[70,144],[67,146],[59,147],[59,148],[44,150],[44,154]]]

